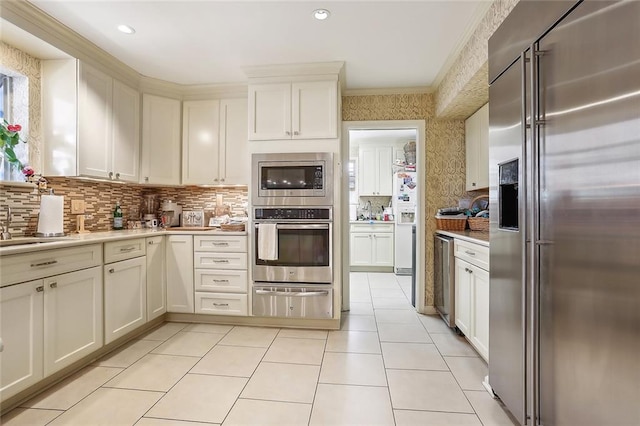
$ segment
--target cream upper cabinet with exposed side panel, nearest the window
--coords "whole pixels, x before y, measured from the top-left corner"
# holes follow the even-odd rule
[[[136,89],[76,60],[43,61],[42,103],[45,174],[138,182]]]

